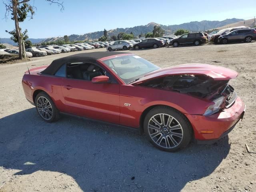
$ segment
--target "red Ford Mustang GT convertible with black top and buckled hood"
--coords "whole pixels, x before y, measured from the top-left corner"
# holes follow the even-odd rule
[[[82,53],[25,72],[27,100],[46,122],[60,112],[140,129],[160,150],[216,142],[243,118],[228,84],[237,72],[209,64],[167,68],[124,52]]]

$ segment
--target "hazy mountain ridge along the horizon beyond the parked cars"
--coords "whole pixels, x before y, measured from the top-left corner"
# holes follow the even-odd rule
[[[129,27],[129,28],[116,28],[113,30],[108,30],[108,35],[117,36],[118,33],[120,32],[125,32],[125,33],[132,32],[135,36],[138,36],[139,34],[146,34],[147,32],[152,32],[155,25],[161,26],[164,29],[165,34],[173,34],[178,29],[186,29],[191,32],[196,32],[198,30],[201,30],[201,31],[208,30],[208,29],[218,28],[221,26],[231,25],[233,23],[243,22],[243,21],[244,21],[243,19],[232,18],[232,19],[226,19],[223,21],[207,21],[207,20],[203,20],[200,22],[193,21],[193,22],[183,23],[179,25],[170,25],[170,26],[150,22],[147,25],[141,25],[141,26],[135,26],[135,27]],[[68,38],[70,39],[70,41],[86,41],[86,40],[90,41],[90,40],[96,40],[101,36],[103,36],[103,31],[90,32],[83,35],[72,34],[68,36]],[[57,40],[64,40],[64,37],[52,37],[52,38],[46,38],[46,39],[41,38],[41,39],[28,39],[28,40],[32,41],[32,43],[54,42]],[[1,38],[0,42],[16,45],[16,43],[14,43],[9,38]]]

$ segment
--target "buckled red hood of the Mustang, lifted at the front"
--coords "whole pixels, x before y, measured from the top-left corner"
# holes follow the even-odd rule
[[[158,77],[182,74],[206,75],[213,78],[214,80],[230,80],[238,76],[238,73],[236,71],[225,67],[210,64],[193,63],[176,65],[156,70],[154,72],[146,74],[144,77],[140,78],[132,84]]]

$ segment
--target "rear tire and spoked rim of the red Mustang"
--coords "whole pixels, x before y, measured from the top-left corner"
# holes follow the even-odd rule
[[[44,98],[46,100],[48,100],[48,102],[46,102],[46,104],[44,104],[45,106],[40,106],[40,103],[42,104],[42,101],[45,101]],[[50,108],[48,107],[50,104]],[[51,122],[55,122],[59,119],[60,117],[60,112],[59,110],[56,108],[54,102],[52,101],[52,99],[50,98],[50,96],[48,94],[46,94],[45,92],[40,92],[39,94],[37,94],[36,96],[36,99],[35,99],[35,106],[36,106],[36,111],[38,112],[39,116],[45,121],[45,122],[48,122],[48,123],[51,123]],[[47,108],[46,112],[42,112],[43,110],[41,110],[41,108]],[[49,115],[50,114],[50,111],[52,112],[51,116]],[[46,118],[44,118],[44,114],[46,114]],[[47,116],[48,114],[48,116]]]

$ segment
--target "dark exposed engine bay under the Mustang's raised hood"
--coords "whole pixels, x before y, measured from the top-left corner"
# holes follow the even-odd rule
[[[229,85],[228,80],[216,81],[206,75],[184,74],[155,78],[141,83],[140,86],[172,90],[180,93],[188,93],[201,98],[206,98],[211,95],[213,96],[222,93]],[[234,89],[232,92],[233,91]]]

